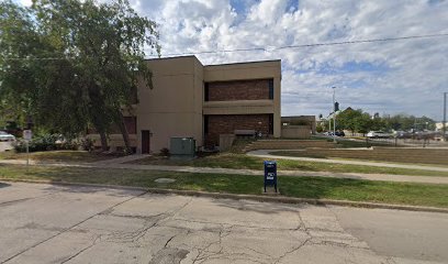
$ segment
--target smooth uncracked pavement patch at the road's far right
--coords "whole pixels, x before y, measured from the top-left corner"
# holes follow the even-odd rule
[[[448,215],[332,207],[345,230],[376,252],[448,263]]]

